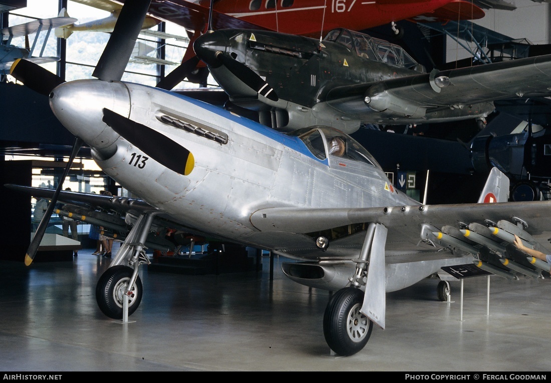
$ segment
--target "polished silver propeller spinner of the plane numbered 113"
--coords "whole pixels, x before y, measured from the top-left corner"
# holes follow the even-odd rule
[[[50,94],[50,107],[67,130],[104,155],[114,153],[118,134],[103,122],[103,109],[123,116],[130,111],[124,84],[95,79],[58,85]]]

